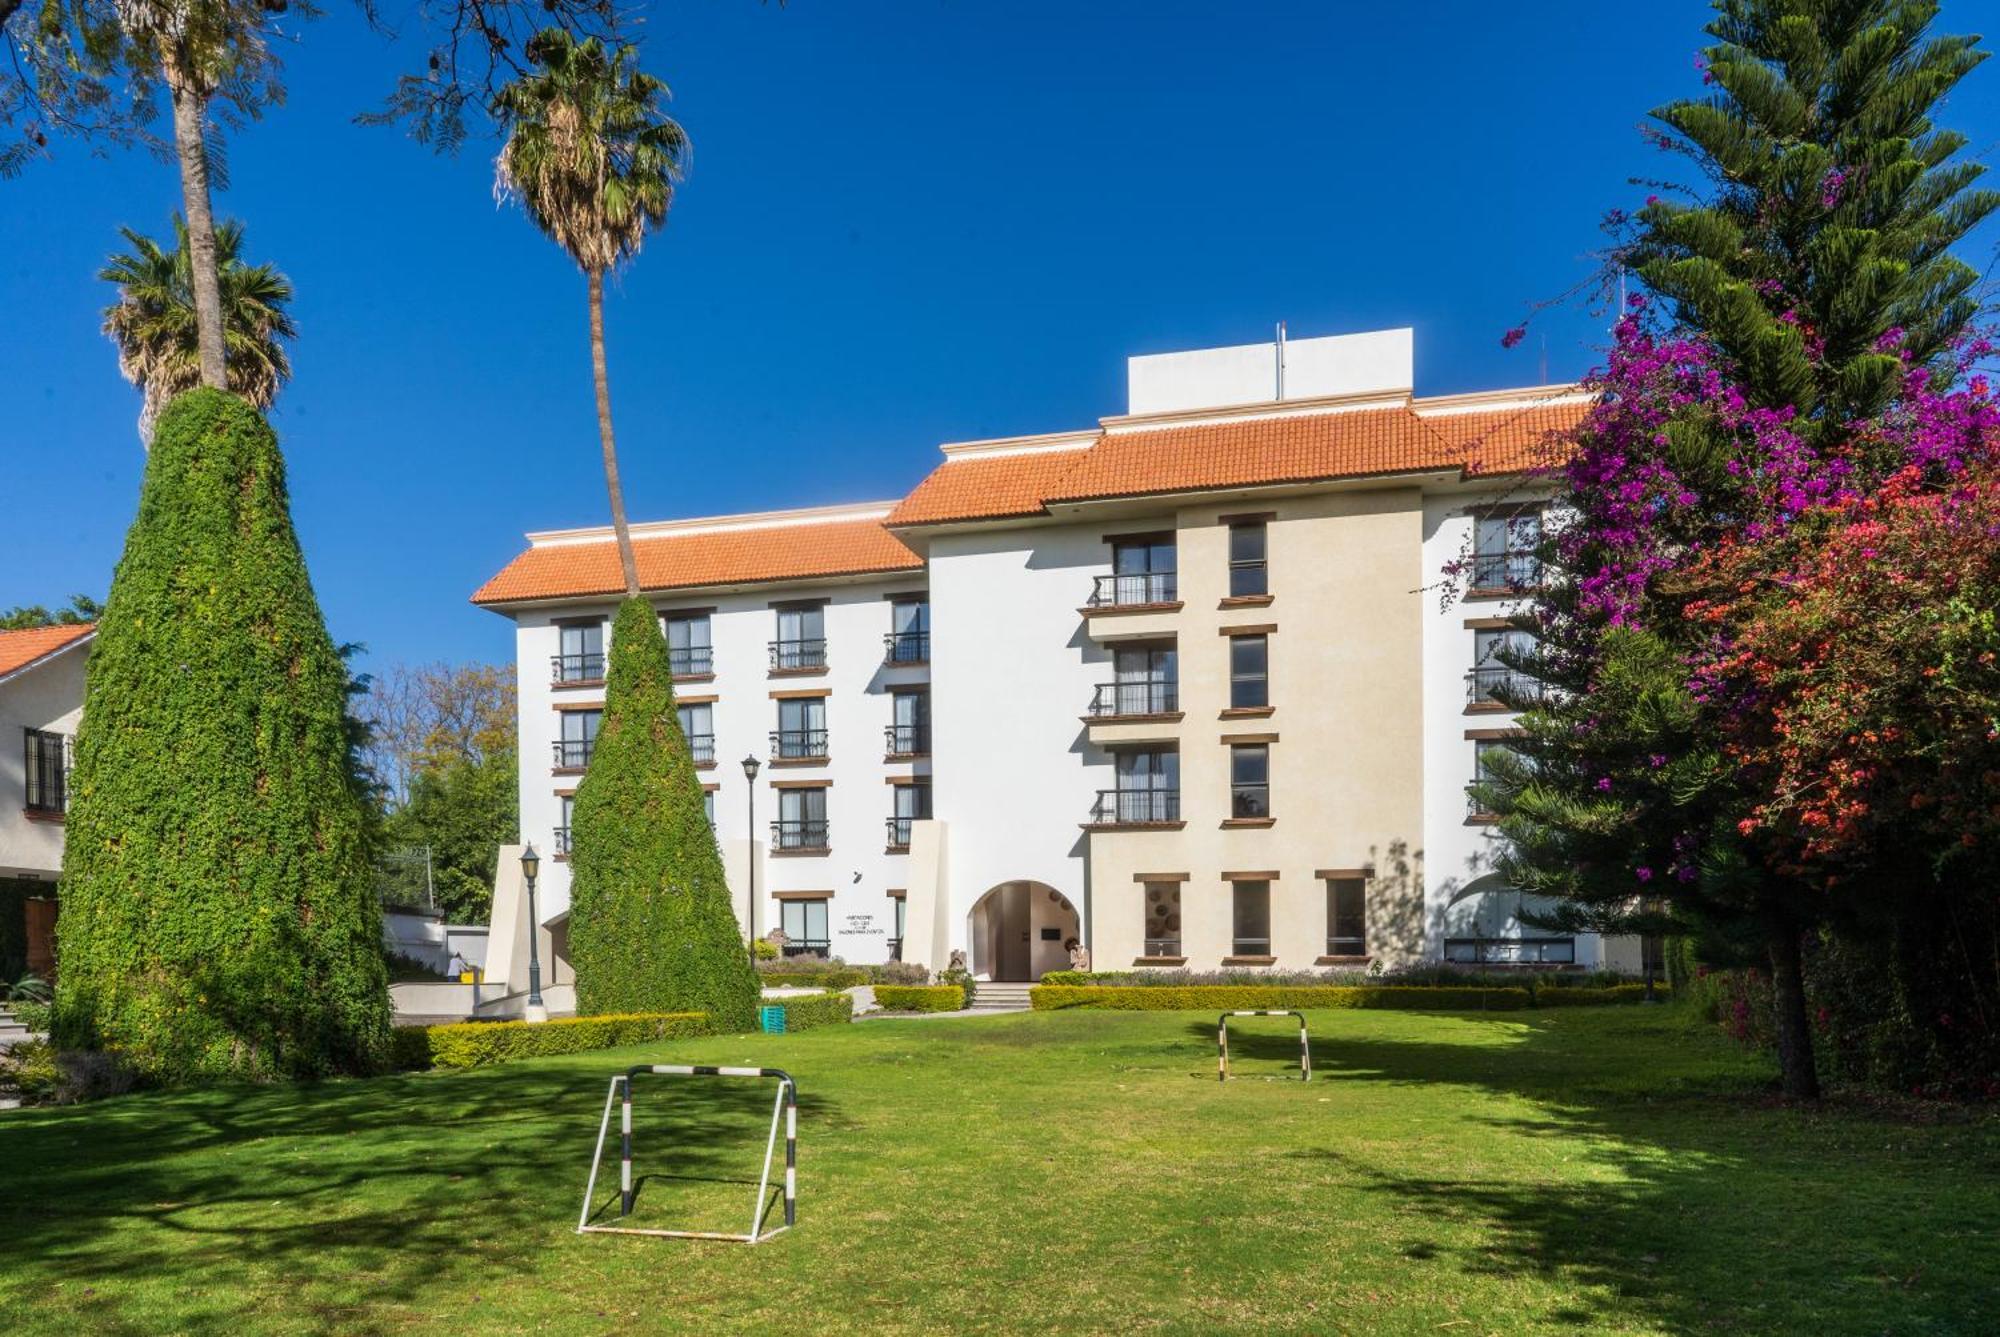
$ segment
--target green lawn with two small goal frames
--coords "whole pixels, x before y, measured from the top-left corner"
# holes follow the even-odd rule
[[[1804,1115],[1670,1007],[880,1021],[0,1115],[0,1331],[1980,1333],[2000,1119]],[[1262,1027],[1262,1031],[1260,1031]],[[780,1065],[800,1223],[574,1235],[606,1077]],[[642,1091],[742,1229],[770,1089]],[[738,1181],[738,1183],[728,1183]]]

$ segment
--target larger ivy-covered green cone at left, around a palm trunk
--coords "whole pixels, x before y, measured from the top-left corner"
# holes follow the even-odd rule
[[[182,394],[160,416],[90,650],[60,1043],[116,1047],[158,1081],[386,1059],[346,685],[276,436],[234,394]]]

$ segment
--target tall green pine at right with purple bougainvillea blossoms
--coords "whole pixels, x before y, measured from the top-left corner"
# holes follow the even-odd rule
[[[1556,691],[1518,701],[1518,761],[1486,797],[1508,879],[1556,899],[1546,923],[1678,929],[1768,963],[1784,1089],[1810,1099],[1800,939],[1826,905],[1742,829],[1760,795],[1690,683],[1724,634],[1690,616],[1712,594],[1690,558],[1900,462],[1870,458],[1854,424],[1910,368],[1956,374],[1980,306],[1950,246],[2000,198],[1930,120],[1984,60],[1976,38],[1932,34],[1930,0],[1714,8],[1714,92],[1654,112],[1702,184],[1648,202],[1622,256],[1670,322],[1628,316],[1598,380],[1558,498],[1574,520],[1550,544],[1564,578],[1522,622],[1540,648],[1520,666]]]

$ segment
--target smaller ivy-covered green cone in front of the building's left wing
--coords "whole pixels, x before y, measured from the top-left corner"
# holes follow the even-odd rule
[[[576,1011],[702,1011],[748,1029],[756,975],[644,598],[624,600],[612,622],[604,719],[570,823]]]

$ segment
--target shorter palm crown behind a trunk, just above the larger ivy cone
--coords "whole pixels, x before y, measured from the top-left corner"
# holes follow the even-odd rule
[[[196,314],[194,246],[188,224],[174,216],[174,248],[120,228],[130,250],[104,262],[98,278],[118,284],[104,308],[104,332],[118,344],[118,370],[146,394],[138,414],[142,442],[170,398],[204,384],[200,318]],[[298,336],[286,306],[292,282],[270,264],[242,260],[240,222],[216,226],[216,286],[222,338],[228,348],[228,388],[258,408],[270,408],[292,376],[284,340]]]

